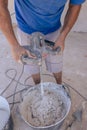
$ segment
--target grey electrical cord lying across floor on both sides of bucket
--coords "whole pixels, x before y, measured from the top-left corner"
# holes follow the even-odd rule
[[[14,76],[13,76],[13,78],[8,74],[10,71],[14,71]],[[21,71],[21,74],[20,74],[19,77],[18,77],[18,80],[15,79],[16,76],[17,76],[17,70],[16,70],[16,69],[8,69],[8,70],[5,72],[5,75],[7,76],[7,78],[11,79],[11,81],[10,81],[10,83],[6,86],[6,88],[1,92],[0,95],[3,96],[3,94],[9,89],[9,87],[11,86],[11,84],[12,84],[14,81],[15,81],[15,83],[16,83],[16,84],[15,84],[14,93],[11,94],[11,95],[8,95],[8,96],[6,97],[6,99],[9,99],[9,98],[13,97],[13,101],[12,101],[11,103],[9,103],[10,105],[12,105],[11,109],[13,108],[14,104],[20,103],[20,101],[15,101],[15,96],[16,96],[16,94],[21,93],[21,92],[23,92],[23,91],[26,91],[26,90],[28,90],[30,87],[32,87],[32,85],[26,85],[27,80],[29,80],[29,79],[31,78],[31,76],[29,76],[29,77],[27,77],[27,78],[25,79],[24,84],[20,82],[20,79],[21,79],[21,77],[22,77],[22,75],[23,75],[23,72],[24,72],[24,65],[23,65],[23,67],[22,67],[22,71]],[[51,75],[51,74],[43,74],[43,75],[53,77],[53,75]],[[86,98],[85,96],[83,96],[79,91],[77,91],[75,88],[73,88],[71,85],[67,84],[66,82],[63,81],[63,83],[64,83],[65,86],[67,86],[68,88],[71,88],[73,91],[75,91],[75,92],[76,92],[81,98],[83,98],[85,101],[87,101],[87,98]],[[23,89],[21,89],[21,90],[19,90],[19,91],[16,91],[19,84],[22,85],[22,86],[25,86],[25,88],[23,88]]]

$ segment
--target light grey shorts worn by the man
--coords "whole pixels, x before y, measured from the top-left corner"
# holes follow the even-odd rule
[[[45,39],[55,42],[56,39],[58,38],[59,34],[60,34],[60,30],[57,30],[53,33],[45,35]],[[30,37],[31,37],[29,34],[21,31],[18,28],[17,36],[18,36],[18,41],[19,41],[20,45],[29,45]],[[62,68],[63,68],[63,55],[62,55],[62,53],[60,53],[58,55],[49,54],[45,59],[45,63],[46,63],[46,69],[49,72],[51,72],[51,73],[61,72]],[[25,65],[24,71],[26,73],[29,73],[30,75],[33,75],[33,74],[38,74],[40,72],[40,68],[38,65],[34,65],[34,64]]]

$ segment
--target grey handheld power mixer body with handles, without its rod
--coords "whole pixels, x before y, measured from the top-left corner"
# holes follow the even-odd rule
[[[42,62],[42,55],[44,53],[51,53],[54,55],[61,51],[60,47],[53,50],[54,44],[54,42],[44,39],[44,35],[42,33],[33,33],[31,35],[30,44],[23,47],[31,54],[35,55],[35,58],[29,57],[28,55],[23,55],[21,57],[21,61],[25,64],[33,63],[40,65]]]

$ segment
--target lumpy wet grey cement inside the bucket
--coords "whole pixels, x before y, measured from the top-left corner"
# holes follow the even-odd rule
[[[35,127],[50,126],[60,121],[66,114],[66,105],[60,95],[51,86],[44,88],[41,96],[40,87],[29,91],[20,105],[20,113],[25,121]]]

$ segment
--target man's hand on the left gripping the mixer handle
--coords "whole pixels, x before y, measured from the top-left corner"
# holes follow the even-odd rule
[[[21,61],[22,55],[29,55],[29,52],[26,49],[24,49],[22,46],[20,46],[19,44],[16,46],[12,46],[11,51],[12,51],[13,58],[17,62]]]

